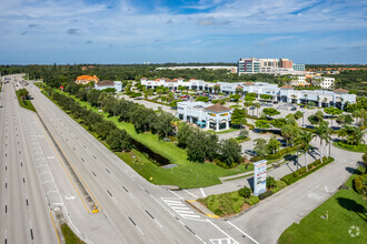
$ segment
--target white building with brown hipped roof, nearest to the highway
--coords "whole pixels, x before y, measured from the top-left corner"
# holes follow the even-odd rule
[[[219,103],[178,102],[177,118],[215,131],[228,130],[232,109]]]

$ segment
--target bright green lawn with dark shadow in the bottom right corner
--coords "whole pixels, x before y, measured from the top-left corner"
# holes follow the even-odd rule
[[[354,174],[346,182],[349,190],[339,190],[334,196],[304,217],[294,223],[280,236],[285,243],[367,243],[367,200],[353,190]],[[321,216],[328,212],[328,220]],[[359,236],[351,237],[351,226],[359,227]]]

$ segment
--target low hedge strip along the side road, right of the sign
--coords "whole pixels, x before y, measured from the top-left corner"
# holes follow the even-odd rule
[[[287,174],[280,179],[280,181],[285,182],[287,185],[291,185],[292,183],[299,181],[300,179],[311,174],[313,172],[321,169],[323,166],[331,163],[334,161],[333,157],[323,157],[323,164],[320,160],[316,160],[315,162],[308,164],[308,171],[306,171],[306,167],[301,167],[298,171],[295,171],[290,174]]]

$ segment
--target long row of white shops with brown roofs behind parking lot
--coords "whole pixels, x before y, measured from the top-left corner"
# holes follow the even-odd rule
[[[296,77],[300,78],[300,82],[307,83],[307,77]],[[334,78],[324,78],[324,77],[314,77],[315,79],[320,79],[320,85],[324,88],[333,88],[331,83]],[[324,79],[324,80],[323,80]],[[258,96],[261,94],[268,94],[272,96],[274,101],[282,101],[288,103],[308,103],[315,102],[319,106],[339,106],[343,108],[347,103],[356,102],[356,94],[348,94],[347,90],[335,90],[335,91],[324,91],[324,90],[295,90],[291,85],[285,85],[278,88],[278,84],[270,84],[267,82],[238,82],[238,83],[228,83],[228,82],[206,82],[204,80],[191,79],[185,81],[184,79],[173,79],[168,80],[165,78],[148,80],[147,78],[141,78],[141,84],[147,89],[156,89],[159,87],[169,88],[170,90],[178,90],[179,88],[194,89],[206,91],[209,93],[227,93],[235,94],[240,92],[241,94],[246,93],[256,93]],[[317,80],[315,80],[317,82]],[[305,95],[306,94],[306,95]]]

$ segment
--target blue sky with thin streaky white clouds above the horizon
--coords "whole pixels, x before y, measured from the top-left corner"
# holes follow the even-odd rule
[[[367,63],[366,0],[0,0],[0,64]]]

